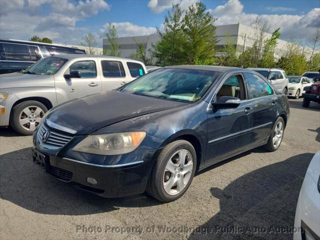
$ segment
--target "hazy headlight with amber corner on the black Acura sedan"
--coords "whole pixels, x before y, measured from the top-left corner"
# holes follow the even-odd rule
[[[72,150],[100,155],[124,154],[135,150],[145,135],[145,131],[89,135]]]

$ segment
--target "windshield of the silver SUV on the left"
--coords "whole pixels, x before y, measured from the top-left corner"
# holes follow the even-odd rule
[[[23,73],[37,75],[52,75],[57,72],[68,59],[50,56],[44,57],[26,68]]]

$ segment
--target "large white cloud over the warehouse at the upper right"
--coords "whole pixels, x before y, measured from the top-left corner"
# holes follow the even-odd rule
[[[215,24],[242,23],[250,25],[259,16],[263,22],[270,25],[272,32],[280,27],[282,39],[294,38],[296,40],[310,40],[316,28],[320,26],[320,8],[313,8],[306,14],[255,14],[245,13],[243,5],[239,0],[228,0],[224,5],[219,5],[215,9],[209,9],[214,17],[217,17]]]

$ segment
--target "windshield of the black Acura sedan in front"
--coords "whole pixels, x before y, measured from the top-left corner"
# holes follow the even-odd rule
[[[214,71],[161,68],[128,83],[121,91],[193,102],[204,95],[217,75]]]

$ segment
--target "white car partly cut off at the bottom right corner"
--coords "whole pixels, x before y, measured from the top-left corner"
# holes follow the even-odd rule
[[[320,151],[312,157],[301,186],[293,240],[320,239]]]

